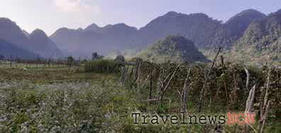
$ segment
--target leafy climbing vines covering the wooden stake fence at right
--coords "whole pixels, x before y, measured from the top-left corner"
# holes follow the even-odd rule
[[[139,76],[134,78],[128,76],[128,88],[137,88],[143,93],[143,98],[148,98],[149,103],[141,110],[143,112],[158,114],[177,114],[184,110],[188,113],[196,114],[200,112],[200,95],[203,94],[202,112],[204,114],[226,113],[226,112],[244,112],[246,101],[250,93],[251,86],[256,87],[253,110],[260,115],[260,107],[263,105],[265,97],[270,101],[270,113],[266,132],[277,132],[276,121],[280,120],[280,69],[277,68],[255,68],[247,69],[239,64],[222,63],[216,64],[216,67],[209,68],[205,64],[154,64],[151,62],[142,62],[140,68],[135,68]],[[209,75],[207,71],[211,71]],[[248,72],[247,72],[248,71]],[[248,74],[250,76],[248,76]],[[129,73],[131,74],[131,73]],[[175,74],[175,75],[174,75]],[[187,76],[188,75],[188,76]],[[249,77],[249,79],[248,79]],[[137,79],[135,81],[134,79]],[[168,81],[168,79],[172,79]],[[206,79],[209,79],[206,81]],[[206,84],[205,84],[206,81]],[[162,86],[167,86],[162,87]],[[184,86],[188,86],[188,100],[184,102]],[[205,92],[202,88],[205,86]],[[143,91],[143,88],[146,88]],[[150,101],[150,102],[149,102]],[[152,102],[152,103],[151,103]],[[184,108],[183,105],[187,105]],[[251,109],[252,110],[252,109]],[[256,117],[257,121],[262,118]],[[258,123],[252,125],[251,132],[258,130]],[[180,127],[179,127],[180,128]],[[189,127],[189,128],[192,128]],[[209,132],[216,129],[214,125],[202,126],[201,132]],[[243,127],[226,126],[224,131],[243,132]]]

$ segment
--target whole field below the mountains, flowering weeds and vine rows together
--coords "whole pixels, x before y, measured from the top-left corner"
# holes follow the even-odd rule
[[[151,64],[150,64],[151,65]],[[23,64],[23,66],[25,66]],[[179,92],[189,66],[178,69],[164,98],[158,104],[158,76],[174,71],[175,64],[154,67],[143,64],[129,66],[125,83],[119,73],[85,72],[84,64],[73,67],[1,68],[0,69],[0,132],[243,132],[240,125],[134,125],[132,112],[148,115],[179,114],[182,98]],[[158,68],[160,67],[160,68]],[[159,74],[161,69],[167,71]],[[189,82],[188,113],[197,114],[199,95],[204,82],[205,65],[192,67]],[[248,68],[250,86],[257,85],[255,103],[263,99],[268,69]],[[138,71],[140,74],[138,74]],[[150,97],[149,71],[152,71]],[[236,74],[233,79],[233,74]],[[272,108],[265,132],[280,132],[280,70],[272,69],[270,101]],[[135,76],[138,75],[136,81]],[[237,83],[233,82],[236,80]],[[224,84],[226,83],[226,84]],[[203,114],[244,112],[248,90],[246,73],[240,66],[217,66],[211,69],[202,107]],[[237,89],[233,89],[236,87]],[[226,88],[227,93],[226,94]],[[150,102],[148,102],[150,100]],[[258,112],[258,106],[254,107]],[[258,117],[256,118],[258,120]],[[258,129],[255,123],[250,132]],[[255,129],[255,130],[254,130]]]

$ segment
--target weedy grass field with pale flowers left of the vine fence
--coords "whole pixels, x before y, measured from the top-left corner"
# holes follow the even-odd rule
[[[183,132],[187,128],[133,125],[131,112],[153,113],[155,107],[149,107],[147,92],[121,86],[118,74],[85,74],[76,67],[70,72],[0,69],[0,77],[0,132]]]

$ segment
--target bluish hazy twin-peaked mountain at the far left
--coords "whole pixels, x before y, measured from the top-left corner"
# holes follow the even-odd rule
[[[6,47],[6,52],[0,52],[0,54],[7,58],[10,58],[10,56],[13,58],[34,58],[38,56],[49,58],[62,57],[63,55],[43,30],[37,29],[29,34],[21,30],[9,18],[0,18],[0,29],[0,40],[2,40],[0,45]],[[7,48],[8,45],[9,49]]]

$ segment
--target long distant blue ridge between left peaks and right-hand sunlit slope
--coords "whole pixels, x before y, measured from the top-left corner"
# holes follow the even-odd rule
[[[204,52],[218,47],[230,50],[250,23],[265,18],[265,14],[248,9],[237,13],[226,23],[204,13],[167,12],[139,30],[124,23],[100,27],[93,23],[84,30],[60,28],[50,38],[67,54],[90,56],[92,52],[109,54],[112,51],[143,50],[167,35],[178,34],[194,42]]]

